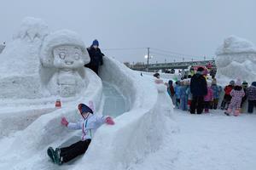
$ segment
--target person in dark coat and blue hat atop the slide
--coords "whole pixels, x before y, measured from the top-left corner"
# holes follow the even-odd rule
[[[84,65],[88,68],[90,68],[92,71],[95,71],[96,74],[99,74],[99,66],[103,65],[103,56],[101,49],[99,48],[99,42],[97,40],[94,40],[90,46],[90,48],[87,48],[87,51],[90,55],[90,63],[87,65]]]

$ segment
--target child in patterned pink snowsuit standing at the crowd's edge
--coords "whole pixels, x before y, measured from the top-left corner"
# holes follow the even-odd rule
[[[232,91],[230,92],[230,95],[232,97],[230,101],[230,105],[229,105],[228,111],[225,111],[224,113],[227,116],[230,116],[232,110],[235,109],[234,116],[239,116],[241,99],[245,95],[243,89],[241,88],[241,80],[238,79],[236,81],[236,86],[234,87],[234,89],[232,89]]]

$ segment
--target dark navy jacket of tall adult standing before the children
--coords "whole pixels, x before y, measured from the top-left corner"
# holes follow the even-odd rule
[[[190,91],[193,96],[207,95],[207,80],[201,74],[196,73],[190,81]]]

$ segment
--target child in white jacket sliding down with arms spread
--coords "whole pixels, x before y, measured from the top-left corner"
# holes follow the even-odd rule
[[[65,117],[62,117],[61,124],[70,129],[82,129],[82,139],[68,147],[56,148],[53,150],[49,147],[47,154],[49,158],[56,164],[61,165],[63,162],[71,161],[73,158],[85,153],[90,144],[92,134],[96,132],[96,129],[103,123],[113,125],[113,119],[110,116],[97,116],[93,114],[93,111],[84,104],[79,104],[79,111],[83,116],[80,122],[67,122]]]

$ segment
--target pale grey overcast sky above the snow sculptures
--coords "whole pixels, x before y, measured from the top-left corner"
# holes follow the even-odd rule
[[[230,35],[256,43],[255,8],[255,0],[8,0],[0,5],[0,42],[8,44],[20,21],[32,16],[52,31],[78,32],[86,46],[98,39],[104,54],[122,62],[146,61],[147,47],[150,62],[182,61],[169,51],[188,54],[186,60],[212,59]]]

